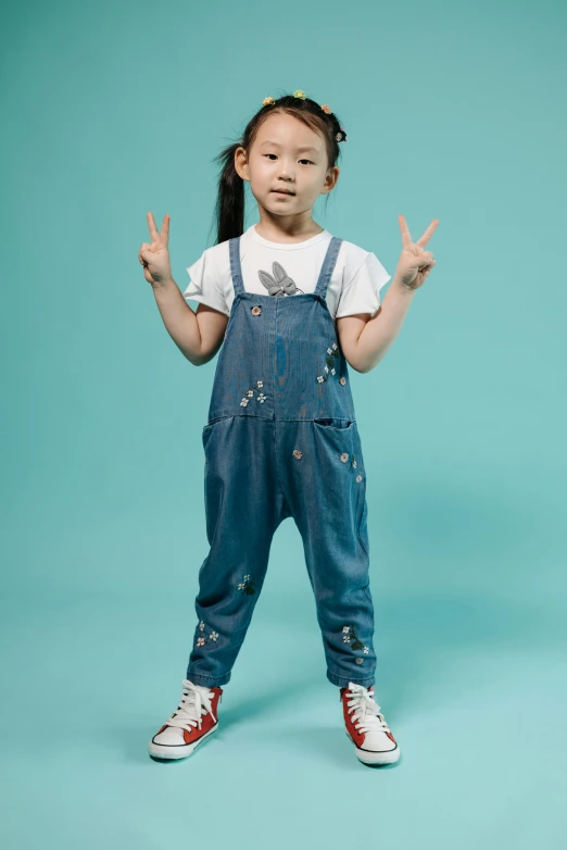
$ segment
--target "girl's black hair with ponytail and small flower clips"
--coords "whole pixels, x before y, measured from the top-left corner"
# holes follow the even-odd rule
[[[234,141],[214,158],[215,162],[222,163],[215,205],[216,245],[241,236],[244,232],[244,180],[235,167],[237,148],[250,150],[261,125],[268,115],[274,112],[287,113],[323,136],[327,148],[328,167],[331,168],[337,164],[340,155],[339,141],[346,139],[346,133],[341,127],[337,114],[327,110],[328,107],[323,110],[319,103],[307,97],[282,95],[277,100],[269,99],[269,102],[262,104],[248,122],[242,138]]]

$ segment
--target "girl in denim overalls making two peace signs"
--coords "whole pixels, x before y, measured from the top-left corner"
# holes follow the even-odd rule
[[[172,278],[169,216],[139,251],[167,332],[194,365],[222,347],[207,423],[205,516],[210,551],[199,572],[197,626],[182,696],[149,743],[182,759],[218,726],[217,703],[266,574],[272,539],[292,516],[315,595],[327,678],[340,689],[345,729],[366,764],[400,748],[374,699],[366,474],[348,364],[369,372],[391,346],[434,265],[403,216],[391,276],[374,253],[331,236],[312,216],[337,184],[344,127],[305,92],[265,98],[224,163],[217,242]],[[260,222],[243,232],[244,180]],[[380,309],[378,309],[380,308]]]

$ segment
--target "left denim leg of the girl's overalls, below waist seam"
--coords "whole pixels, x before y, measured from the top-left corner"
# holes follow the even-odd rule
[[[196,685],[226,684],[264,584],[269,549],[289,516],[278,485],[274,421],[229,416],[203,428],[210,551],[199,572],[187,667]]]

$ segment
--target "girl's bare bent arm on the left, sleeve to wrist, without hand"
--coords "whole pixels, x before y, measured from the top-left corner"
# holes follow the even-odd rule
[[[173,277],[152,288],[163,323],[180,352],[196,366],[212,360],[223,345],[228,316],[207,304],[199,304],[196,313]]]

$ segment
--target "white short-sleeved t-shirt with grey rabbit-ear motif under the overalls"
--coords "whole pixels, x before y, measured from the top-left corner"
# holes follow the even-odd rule
[[[240,237],[245,291],[269,295],[270,288],[286,280],[286,295],[281,298],[314,292],[330,240],[331,234],[322,230],[302,242],[272,242],[260,236],[252,224]],[[228,239],[207,248],[187,272],[190,282],[184,297],[230,315],[235,290]],[[380,305],[379,291],[390,279],[391,275],[376,254],[343,240],[327,287],[329,313],[333,318],[353,313],[374,315]]]

